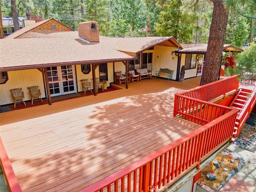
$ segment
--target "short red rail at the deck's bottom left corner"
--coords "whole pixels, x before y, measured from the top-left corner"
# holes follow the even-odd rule
[[[1,167],[4,173],[4,178],[6,180],[8,189],[10,192],[22,192],[20,188],[20,184],[18,183],[18,180],[14,174],[14,171],[12,169],[11,162],[8,158],[8,155],[6,154],[6,150],[4,148],[4,144],[2,142],[2,139],[0,137],[0,163]]]

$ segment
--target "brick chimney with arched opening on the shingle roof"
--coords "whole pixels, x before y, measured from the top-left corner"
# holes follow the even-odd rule
[[[79,23],[78,25],[79,37],[90,41],[90,43],[99,43],[99,26],[96,21],[87,21]]]

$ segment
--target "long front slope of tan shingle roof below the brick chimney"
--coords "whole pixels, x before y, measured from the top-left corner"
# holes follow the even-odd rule
[[[82,64],[106,60],[132,60],[132,56],[115,50],[111,44],[88,45],[72,38],[2,39],[0,69],[16,70],[45,66]]]

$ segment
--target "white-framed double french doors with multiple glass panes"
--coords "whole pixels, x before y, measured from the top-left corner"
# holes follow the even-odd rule
[[[57,66],[47,68],[51,96],[76,93],[74,66]]]

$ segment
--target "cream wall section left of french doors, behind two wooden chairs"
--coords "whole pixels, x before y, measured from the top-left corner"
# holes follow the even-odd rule
[[[11,89],[22,88],[24,92],[24,100],[30,100],[28,91],[29,86],[38,86],[41,91],[42,98],[46,97],[44,91],[44,81],[42,73],[37,69],[8,71],[8,81],[5,84],[0,84],[0,104],[13,103]]]

